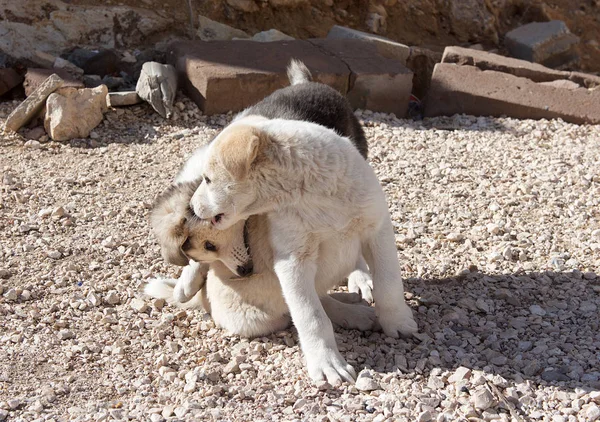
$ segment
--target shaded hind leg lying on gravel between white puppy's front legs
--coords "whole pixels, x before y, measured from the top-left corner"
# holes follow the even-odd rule
[[[340,302],[330,295],[321,296],[321,304],[335,325],[352,330],[368,331],[377,328],[375,309],[370,306]]]

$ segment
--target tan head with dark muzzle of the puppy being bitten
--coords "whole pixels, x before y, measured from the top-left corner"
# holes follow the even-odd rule
[[[150,222],[163,258],[185,266],[189,260],[211,263],[221,261],[234,274],[245,277],[252,273],[245,221],[225,230],[217,230],[210,221],[201,220],[189,208],[190,198],[198,183],[172,186],[156,201]]]

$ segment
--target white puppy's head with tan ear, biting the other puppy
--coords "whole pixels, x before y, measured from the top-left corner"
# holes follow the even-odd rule
[[[249,206],[258,197],[253,169],[268,142],[266,133],[241,123],[232,124],[217,136],[190,202],[198,217],[223,230],[249,216]]]

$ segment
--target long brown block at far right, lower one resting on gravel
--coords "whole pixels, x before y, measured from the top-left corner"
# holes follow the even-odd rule
[[[425,116],[471,114],[600,123],[600,89],[565,89],[474,66],[437,64]]]

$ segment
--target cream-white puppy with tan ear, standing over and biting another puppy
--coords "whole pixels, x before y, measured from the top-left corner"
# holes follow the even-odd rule
[[[203,181],[190,205],[225,230],[265,214],[274,269],[298,330],[309,375],[353,381],[316,286],[345,257],[365,255],[381,327],[391,337],[417,331],[404,288],[385,195],[374,171],[347,139],[323,126],[258,116],[241,118],[208,146]],[[338,256],[339,257],[339,256]]]

